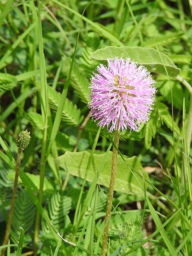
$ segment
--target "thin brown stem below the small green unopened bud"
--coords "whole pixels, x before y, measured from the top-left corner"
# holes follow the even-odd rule
[[[14,211],[15,200],[16,200],[17,184],[18,184],[18,176],[19,176],[19,168],[20,168],[20,164],[21,164],[22,152],[23,152],[23,149],[18,148],[16,171],[15,171],[15,181],[14,181],[14,186],[13,186],[13,193],[12,193],[11,206],[10,206],[10,211],[9,211],[9,218],[8,218],[8,222],[7,222],[7,227],[6,227],[6,232],[5,232],[3,245],[6,245],[8,243],[9,236],[10,236],[11,222],[12,222],[12,218],[13,218],[13,211]],[[6,251],[6,247],[3,248],[2,251],[1,251],[2,256],[4,256],[5,251]]]

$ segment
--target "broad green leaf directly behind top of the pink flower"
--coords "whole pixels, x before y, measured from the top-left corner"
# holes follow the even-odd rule
[[[90,56],[91,58],[96,60],[107,60],[108,58],[115,57],[123,57],[124,59],[130,58],[131,61],[135,61],[138,62],[138,64],[146,66],[146,68],[150,72],[166,74],[158,51],[153,48],[142,48],[138,46],[107,46],[105,48],[96,50]],[[168,56],[166,56],[162,52],[161,56],[167,68],[169,76],[175,77],[180,74],[180,68],[177,68]]]

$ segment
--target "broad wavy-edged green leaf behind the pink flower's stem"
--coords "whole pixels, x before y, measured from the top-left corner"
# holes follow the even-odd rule
[[[95,175],[98,172],[102,159],[105,154],[94,154],[93,160],[90,164],[90,168],[88,170],[88,174],[86,180],[92,182],[94,180]],[[83,152],[66,152],[64,155],[59,156],[55,159],[56,164],[64,168],[66,171],[70,172],[74,176],[78,176],[81,178],[85,177],[85,172],[88,164],[88,160],[90,157],[90,153],[87,151]],[[143,179],[134,172],[131,172],[130,167],[135,170],[140,170],[144,176],[144,178],[148,179],[148,174],[144,171],[142,165],[140,164],[138,158],[133,156],[128,158],[124,156],[125,162],[122,161],[120,155],[118,155],[117,160],[117,176],[114,189],[119,192],[129,193],[132,192],[138,196],[143,196],[143,190],[140,188],[140,184],[143,185]],[[112,152],[110,151],[106,161],[104,163],[104,167],[99,175],[98,183],[100,185],[104,185],[109,187],[110,176],[111,176],[111,165],[112,165]],[[137,180],[138,179],[138,180]],[[140,184],[138,183],[140,182]]]

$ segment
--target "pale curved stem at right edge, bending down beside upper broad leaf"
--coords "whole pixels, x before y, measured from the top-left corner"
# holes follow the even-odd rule
[[[186,124],[187,148],[189,152],[190,146],[191,146],[191,136],[192,136],[192,87],[182,77],[176,76],[176,79],[182,84],[184,84],[184,86],[188,89],[190,94],[189,111],[187,115],[187,124]]]

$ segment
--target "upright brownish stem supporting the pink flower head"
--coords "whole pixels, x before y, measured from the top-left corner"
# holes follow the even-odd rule
[[[119,146],[119,137],[120,132],[118,130],[115,130],[114,135],[114,144],[118,148]],[[108,201],[107,201],[107,210],[106,210],[106,216],[105,216],[105,223],[106,227],[104,229],[104,236],[103,236],[103,244],[102,244],[102,251],[101,255],[106,255],[106,247],[107,247],[107,240],[108,240],[108,231],[109,231],[109,221],[110,221],[110,215],[111,215],[111,209],[112,209],[112,199],[113,199],[113,193],[114,193],[114,185],[115,185],[115,178],[117,173],[117,150],[115,147],[113,147],[113,154],[112,154],[112,168],[111,168],[111,180],[109,185],[109,194],[108,194]]]

